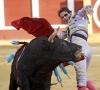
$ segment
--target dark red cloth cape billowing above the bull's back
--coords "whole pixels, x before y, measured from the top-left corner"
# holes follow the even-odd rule
[[[17,30],[22,28],[29,34],[34,35],[35,37],[49,37],[54,32],[54,29],[52,28],[51,24],[44,18],[23,17],[12,21],[11,25]]]

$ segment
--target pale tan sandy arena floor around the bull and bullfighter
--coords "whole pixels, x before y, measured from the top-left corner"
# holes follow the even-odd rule
[[[100,44],[90,44],[93,56],[90,66],[87,71],[87,77],[93,82],[93,84],[100,90]],[[10,81],[11,63],[4,65],[4,62],[8,55],[16,51],[18,46],[0,46],[0,90],[8,90]],[[75,71],[73,66],[66,67],[71,79],[65,75],[58,67],[60,76],[62,78],[62,85],[60,83],[53,85],[51,90],[77,90]],[[52,83],[57,83],[57,78],[53,74]],[[88,89],[87,89],[88,90]]]

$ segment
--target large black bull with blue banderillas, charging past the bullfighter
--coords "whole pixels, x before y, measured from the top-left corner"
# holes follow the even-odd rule
[[[53,43],[41,36],[21,49],[11,67],[9,90],[50,90],[52,71],[60,63],[75,60],[81,46],[55,38]]]

